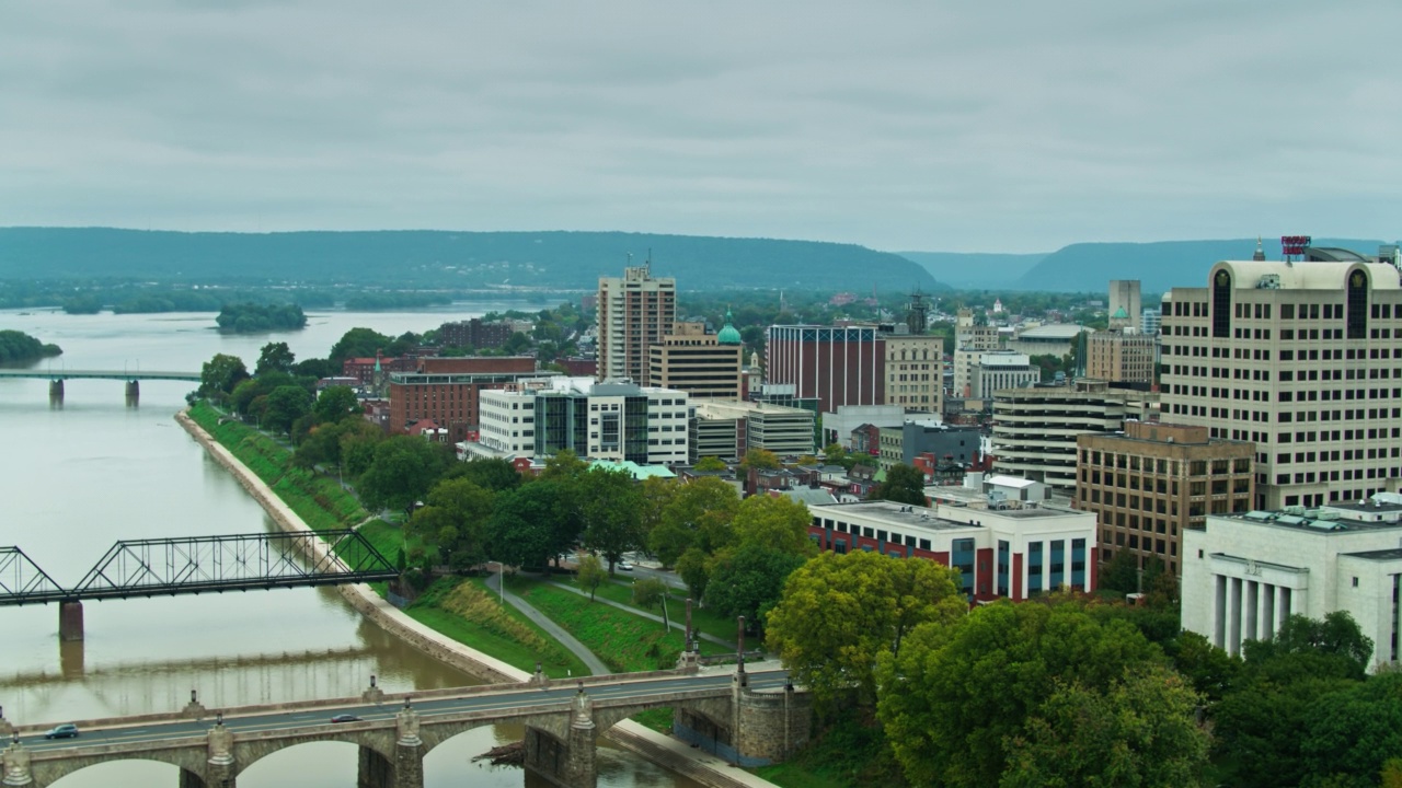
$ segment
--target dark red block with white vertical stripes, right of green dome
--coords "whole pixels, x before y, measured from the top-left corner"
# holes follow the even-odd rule
[[[875,325],[771,325],[764,380],[794,386],[794,397],[819,401],[820,414],[841,405],[886,404],[886,337]]]

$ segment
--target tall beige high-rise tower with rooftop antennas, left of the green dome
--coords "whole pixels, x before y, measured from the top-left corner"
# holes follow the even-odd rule
[[[677,280],[652,276],[646,265],[599,278],[599,380],[648,376],[648,346],[662,342],[677,320]]]

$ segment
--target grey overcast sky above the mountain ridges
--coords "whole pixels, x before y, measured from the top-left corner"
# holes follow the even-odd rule
[[[1396,238],[1399,31],[1396,0],[3,0],[0,226]]]

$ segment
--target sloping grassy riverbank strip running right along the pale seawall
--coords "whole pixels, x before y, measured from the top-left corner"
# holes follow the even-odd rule
[[[258,475],[314,530],[343,529],[365,523],[359,531],[383,555],[395,561],[404,533],[395,523],[370,520],[355,495],[327,477],[292,466],[292,453],[272,437],[206,402],[189,409],[191,418]],[[223,423],[220,423],[220,419]],[[374,583],[383,595],[383,583]],[[540,660],[551,677],[589,674],[583,662],[513,607],[492,602],[481,580],[439,580],[405,613],[444,635],[531,672]]]

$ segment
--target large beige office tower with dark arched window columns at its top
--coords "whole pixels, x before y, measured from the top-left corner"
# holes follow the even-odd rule
[[[1256,509],[1402,477],[1398,269],[1345,250],[1218,262],[1164,297],[1164,419],[1256,443]]]

